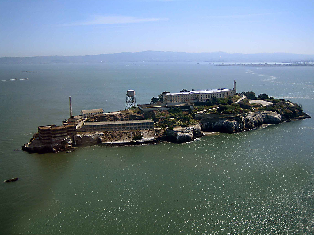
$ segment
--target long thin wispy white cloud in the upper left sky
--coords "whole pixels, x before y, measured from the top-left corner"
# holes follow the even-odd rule
[[[168,20],[167,18],[138,18],[132,16],[92,16],[91,20],[62,24],[59,26],[84,26],[84,25],[106,25],[106,24],[133,24],[150,21]]]

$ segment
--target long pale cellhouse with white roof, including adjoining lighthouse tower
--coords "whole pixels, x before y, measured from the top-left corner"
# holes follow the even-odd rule
[[[215,89],[215,90],[198,90],[179,93],[164,94],[164,104],[167,103],[182,103],[182,102],[205,102],[206,100],[217,97],[224,98],[236,95],[236,80],[233,82],[233,90],[230,89]]]

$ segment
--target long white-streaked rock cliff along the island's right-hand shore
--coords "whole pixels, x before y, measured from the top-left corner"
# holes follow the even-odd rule
[[[284,120],[277,112],[252,112],[233,118],[211,118],[200,120],[203,131],[238,133],[263,124],[279,124]]]

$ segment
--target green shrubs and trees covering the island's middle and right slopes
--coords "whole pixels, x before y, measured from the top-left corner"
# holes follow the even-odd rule
[[[184,92],[186,90],[182,90]],[[152,97],[151,103],[158,104],[163,101],[161,93],[157,97]],[[242,96],[246,96],[245,99],[239,103],[235,103]],[[250,100],[264,100],[271,102],[267,106],[263,106],[259,103],[250,103]],[[267,94],[262,93],[257,97],[253,91],[242,92],[240,95],[225,98],[216,98],[206,100],[206,102],[195,102],[194,109],[190,109],[189,106],[171,107],[169,110],[162,111],[149,111],[142,112],[138,108],[133,110],[138,114],[142,114],[145,119],[152,119],[155,122],[155,128],[167,128],[167,127],[187,127],[195,124],[197,118],[195,115],[199,112],[212,113],[212,114],[232,114],[239,115],[250,112],[258,111],[271,111],[277,112],[283,115],[283,118],[289,119],[296,117],[303,113],[302,106],[297,103],[292,103],[289,100],[276,99],[274,97],[268,97]]]

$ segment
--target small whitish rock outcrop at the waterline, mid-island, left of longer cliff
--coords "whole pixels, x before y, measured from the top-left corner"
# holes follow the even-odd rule
[[[182,130],[167,130],[165,140],[173,143],[185,143],[201,136],[203,136],[202,129],[201,126],[197,124]]]

